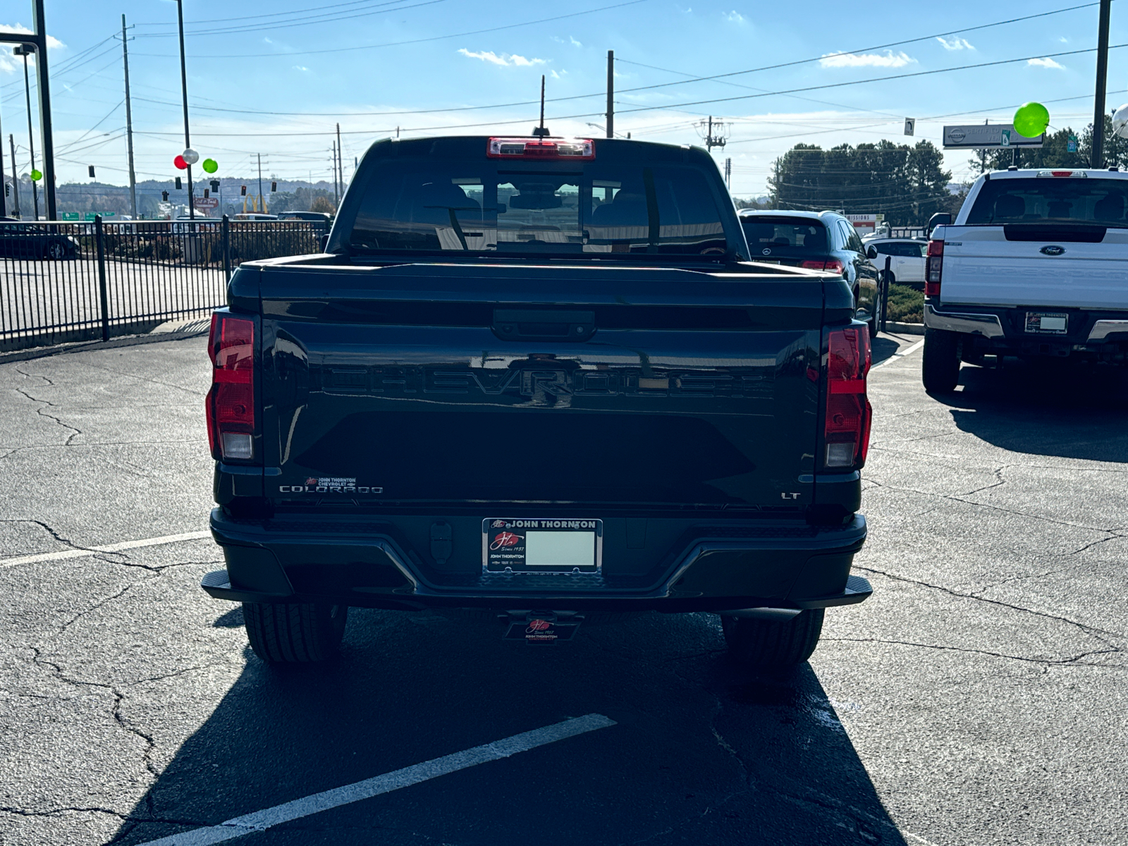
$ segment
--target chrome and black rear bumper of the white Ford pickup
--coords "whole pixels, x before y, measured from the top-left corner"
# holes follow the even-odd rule
[[[1028,312],[1066,316],[1064,334],[1028,332]],[[957,332],[977,352],[1003,355],[1082,356],[1123,362],[1128,353],[1128,312],[1059,307],[962,306],[926,298],[924,325]]]

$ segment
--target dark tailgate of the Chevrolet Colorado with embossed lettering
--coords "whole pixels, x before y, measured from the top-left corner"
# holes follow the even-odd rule
[[[275,500],[811,501],[819,277],[280,265],[259,292]]]

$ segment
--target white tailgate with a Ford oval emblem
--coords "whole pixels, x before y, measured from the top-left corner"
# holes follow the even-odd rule
[[[1128,309],[1128,229],[1077,237],[1050,224],[944,227],[941,303]]]

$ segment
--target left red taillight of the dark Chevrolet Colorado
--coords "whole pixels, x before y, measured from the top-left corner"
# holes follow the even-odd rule
[[[255,321],[212,315],[212,387],[204,400],[212,457],[254,458]]]

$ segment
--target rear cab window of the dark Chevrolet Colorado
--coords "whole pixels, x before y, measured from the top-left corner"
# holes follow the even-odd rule
[[[602,146],[588,160],[509,160],[487,158],[484,138],[449,142],[399,142],[399,155],[373,162],[349,236],[354,252],[717,259],[731,250],[702,167],[601,157]]]

